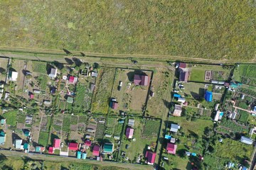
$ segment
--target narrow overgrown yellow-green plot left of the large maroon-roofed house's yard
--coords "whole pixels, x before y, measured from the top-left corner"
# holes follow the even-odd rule
[[[100,69],[92,98],[92,113],[107,114],[114,84],[114,73],[114,68]]]

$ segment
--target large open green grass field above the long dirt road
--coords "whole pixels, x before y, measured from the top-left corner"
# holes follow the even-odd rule
[[[255,56],[255,1],[68,0],[61,6],[58,1],[1,1],[0,5],[0,44],[5,47],[216,60]]]

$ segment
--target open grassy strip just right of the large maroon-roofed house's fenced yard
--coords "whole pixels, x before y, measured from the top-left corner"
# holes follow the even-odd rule
[[[154,71],[154,77],[151,82],[151,91],[154,97],[149,96],[149,101],[146,105],[146,115],[151,115],[156,118],[161,116],[166,111],[166,103],[170,100],[169,88],[174,79],[174,72],[167,69],[158,68]]]

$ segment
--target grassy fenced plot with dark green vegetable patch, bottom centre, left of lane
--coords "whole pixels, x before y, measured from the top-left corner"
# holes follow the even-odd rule
[[[134,118],[134,120],[134,135],[132,139],[127,139],[126,135],[123,135],[121,146],[121,153],[125,152],[125,157],[129,158],[128,162],[133,163],[137,162],[138,156],[144,157],[148,147],[151,147],[154,152],[160,128],[160,120],[145,118]],[[127,162],[125,157],[119,156],[119,159]],[[143,161],[144,159],[142,159]]]

